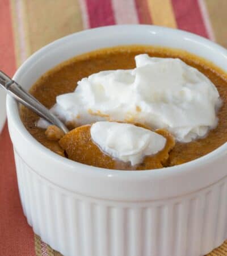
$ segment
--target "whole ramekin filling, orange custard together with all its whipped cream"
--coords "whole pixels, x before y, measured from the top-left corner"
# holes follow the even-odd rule
[[[30,93],[70,129],[64,135],[22,106],[20,116],[31,135],[53,152],[91,166],[115,170],[175,166],[227,141],[225,73],[181,50],[124,46],[86,53],[45,73]],[[106,105],[102,97],[107,97]],[[89,108],[99,100],[100,109]]]

